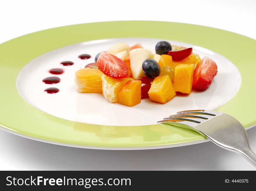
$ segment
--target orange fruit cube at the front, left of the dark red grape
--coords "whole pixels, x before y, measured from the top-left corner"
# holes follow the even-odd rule
[[[118,103],[130,107],[141,103],[141,81],[127,81],[118,92]]]

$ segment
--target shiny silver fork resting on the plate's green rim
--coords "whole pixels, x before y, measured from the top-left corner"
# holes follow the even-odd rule
[[[211,110],[188,110],[177,112],[157,123],[195,130],[221,148],[242,155],[256,167],[256,154],[250,148],[243,125],[228,114]]]

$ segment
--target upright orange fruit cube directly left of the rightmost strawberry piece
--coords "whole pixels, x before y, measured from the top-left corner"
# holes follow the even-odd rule
[[[180,64],[174,71],[175,92],[190,94],[193,84],[194,64]]]

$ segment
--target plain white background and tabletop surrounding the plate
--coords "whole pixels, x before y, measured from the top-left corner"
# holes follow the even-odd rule
[[[47,28],[115,20],[193,23],[256,39],[255,10],[254,0],[1,0],[0,43]],[[256,128],[247,132],[256,152]],[[1,130],[0,153],[0,170],[256,170],[239,155],[211,142],[159,150],[89,150],[41,143]]]

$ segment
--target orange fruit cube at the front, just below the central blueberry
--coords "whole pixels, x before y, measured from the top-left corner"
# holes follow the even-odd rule
[[[148,91],[149,98],[158,103],[166,103],[176,95],[173,84],[168,75],[154,79]]]

